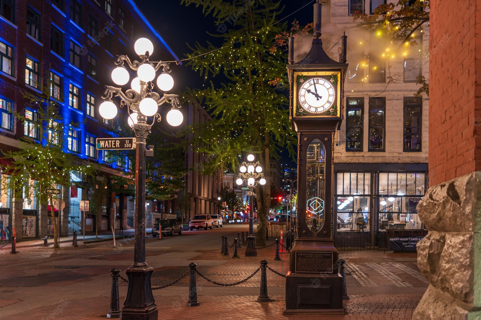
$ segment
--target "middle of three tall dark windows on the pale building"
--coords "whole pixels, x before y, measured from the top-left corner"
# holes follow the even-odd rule
[[[384,151],[386,98],[369,98],[369,150]]]

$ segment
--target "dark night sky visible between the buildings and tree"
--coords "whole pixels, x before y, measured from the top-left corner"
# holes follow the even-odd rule
[[[195,5],[186,7],[180,4],[180,0],[136,0],[135,2],[153,27],[164,37],[165,42],[177,54],[179,59],[184,59],[185,54],[191,51],[187,44],[193,46],[196,41],[203,45],[206,44],[206,41],[211,41],[213,44],[221,46],[221,38],[211,37],[207,34],[207,32],[219,33],[219,30],[212,16],[205,17],[203,15],[201,6],[197,8]],[[284,18],[309,2],[314,4],[313,0],[283,0],[282,2],[285,8],[279,15],[279,19]],[[308,4],[283,21],[291,22],[295,18],[301,25],[312,22],[312,4]],[[192,71],[190,66],[184,64],[179,68],[174,68],[174,72],[176,72],[176,74],[173,74],[175,79],[174,90],[176,91],[182,91],[185,87],[198,88],[203,84],[203,78],[198,73]],[[281,163],[285,163],[288,160],[291,161],[287,153],[283,154],[282,158],[280,160]]]

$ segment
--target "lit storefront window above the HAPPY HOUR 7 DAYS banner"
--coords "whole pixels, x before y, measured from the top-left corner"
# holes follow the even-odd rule
[[[379,174],[379,229],[423,229],[416,206],[425,192],[424,173]]]

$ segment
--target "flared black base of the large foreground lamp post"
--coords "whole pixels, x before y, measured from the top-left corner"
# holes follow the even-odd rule
[[[128,290],[121,320],[157,320],[158,311],[151,288],[152,272],[153,268],[147,264],[131,266],[126,270]]]

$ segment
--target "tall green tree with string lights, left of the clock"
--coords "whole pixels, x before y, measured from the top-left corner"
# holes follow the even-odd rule
[[[205,81],[217,77],[215,83],[211,81],[204,89],[184,93],[186,100],[205,106],[214,118],[196,128],[195,145],[205,144],[202,151],[212,157],[212,172],[220,174],[222,164],[237,168],[238,155],[253,152],[265,169],[266,180],[270,181],[270,160],[278,157],[279,148],[293,151],[295,146],[288,99],[269,83],[285,77],[286,73],[286,57],[269,51],[276,35],[285,27],[276,24],[282,11],[280,0],[181,0],[181,3],[201,6],[206,16],[214,18],[215,24],[228,29],[212,35],[221,39],[221,49],[215,50],[210,42],[196,43],[187,55],[193,58],[187,64]],[[204,54],[212,50],[215,51]],[[216,148],[218,144],[223,148]],[[270,186],[259,185],[256,192],[260,221],[257,244],[263,245]]]

